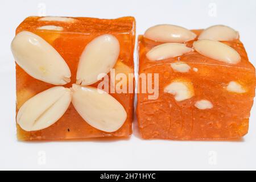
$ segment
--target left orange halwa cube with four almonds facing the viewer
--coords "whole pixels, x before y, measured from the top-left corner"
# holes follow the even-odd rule
[[[133,74],[134,42],[130,16],[26,18],[11,42],[18,139],[129,137],[134,93],[107,93],[98,82],[113,68]]]

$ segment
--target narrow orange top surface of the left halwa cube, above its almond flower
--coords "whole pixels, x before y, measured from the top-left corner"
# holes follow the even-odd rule
[[[59,30],[63,32],[77,32],[93,34],[104,32],[107,34],[123,34],[135,30],[135,19],[131,16],[117,19],[98,19],[84,17],[59,17],[59,16],[30,16],[17,28],[20,30]]]

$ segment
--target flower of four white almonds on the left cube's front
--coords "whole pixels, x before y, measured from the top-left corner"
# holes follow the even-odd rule
[[[80,56],[76,84],[70,82],[71,71],[60,54],[40,36],[19,32],[11,43],[16,63],[31,77],[53,86],[30,98],[20,107],[16,122],[26,131],[45,129],[57,122],[73,104],[85,122],[98,130],[117,131],[126,121],[123,106],[110,94],[92,85],[109,73],[119,56],[119,42],[113,35],[93,39]]]

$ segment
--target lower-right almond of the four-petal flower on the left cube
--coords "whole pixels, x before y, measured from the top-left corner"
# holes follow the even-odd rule
[[[91,126],[106,132],[117,131],[125,122],[127,113],[110,94],[91,86],[73,84],[72,104]]]

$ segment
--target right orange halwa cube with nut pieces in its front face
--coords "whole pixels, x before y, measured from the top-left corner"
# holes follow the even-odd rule
[[[247,133],[255,68],[238,37],[226,26],[189,31],[172,25],[139,36],[139,75],[159,75],[156,99],[139,82],[144,139],[229,140]]]

